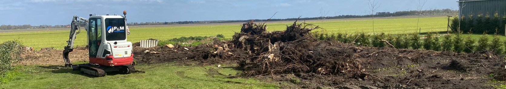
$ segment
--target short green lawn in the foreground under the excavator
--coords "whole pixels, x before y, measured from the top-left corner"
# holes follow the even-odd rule
[[[146,73],[89,77],[62,66],[19,66],[19,74],[0,88],[279,88],[253,78],[227,78],[240,72],[233,67],[137,65]]]

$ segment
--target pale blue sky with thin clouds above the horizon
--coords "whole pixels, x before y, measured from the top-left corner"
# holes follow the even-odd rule
[[[418,0],[377,0],[375,12],[416,10]],[[427,9],[457,10],[456,0],[428,0]],[[66,25],[72,16],[122,14],[128,22],[248,20],[370,14],[366,0],[0,0],[0,24]]]

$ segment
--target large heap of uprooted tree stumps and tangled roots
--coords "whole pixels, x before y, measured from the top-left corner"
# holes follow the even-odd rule
[[[232,42],[234,47],[249,52],[239,59],[246,76],[278,73],[343,73],[360,76],[361,66],[348,48],[332,48],[330,41],[317,41],[310,31],[318,26],[294,22],[285,31],[265,32],[263,24],[245,23]],[[328,48],[327,48],[328,47]],[[340,46],[343,47],[343,46]]]

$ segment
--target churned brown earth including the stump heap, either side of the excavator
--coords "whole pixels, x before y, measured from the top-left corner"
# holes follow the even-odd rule
[[[198,47],[140,48],[134,43],[134,59],[140,64],[234,63],[244,71],[236,77],[296,85],[284,88],[494,88],[491,80],[506,79],[504,57],[489,51],[457,54],[358,47],[313,39],[310,31],[318,27],[310,24],[294,23],[286,31],[266,28],[245,23],[233,40],[215,38]],[[86,53],[74,50],[70,55],[76,56],[70,59],[87,60]],[[22,64],[63,65],[60,50],[27,53],[26,60]]]

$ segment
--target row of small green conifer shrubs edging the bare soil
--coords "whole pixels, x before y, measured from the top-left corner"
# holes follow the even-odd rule
[[[319,33],[314,35],[320,40],[335,40],[343,43],[353,43],[356,46],[365,47],[389,47],[386,40],[392,44],[396,49],[425,49],[433,51],[447,51],[455,53],[473,53],[476,51],[489,50],[497,54],[504,54],[506,51],[506,41],[500,40],[496,35],[492,40],[489,40],[487,34],[484,34],[478,41],[471,38],[471,36],[463,37],[460,34],[437,36],[429,32],[424,36],[418,34],[347,34],[337,33],[327,35]],[[422,38],[424,37],[424,38]],[[355,41],[354,41],[355,40]]]

